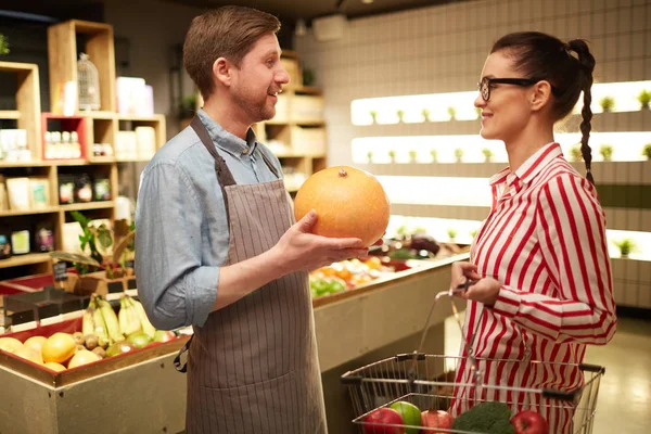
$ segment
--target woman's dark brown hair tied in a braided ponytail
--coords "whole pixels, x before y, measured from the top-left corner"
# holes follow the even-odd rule
[[[513,59],[515,69],[522,72],[526,78],[549,81],[553,88],[552,113],[557,120],[572,112],[580,92],[584,92],[580,152],[586,162],[586,178],[593,184],[595,179],[590,173],[592,155],[588,139],[592,119],[590,88],[595,58],[586,41],[573,39],[565,43],[538,31],[521,31],[501,37],[495,42],[490,53],[496,51],[507,51],[507,55]],[[571,54],[572,51],[577,58]]]

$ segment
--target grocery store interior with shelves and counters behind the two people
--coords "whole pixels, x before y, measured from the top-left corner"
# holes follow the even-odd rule
[[[469,260],[489,179],[509,164],[501,141],[480,136],[475,107],[494,42],[524,30],[588,42],[617,331],[587,346],[584,362],[603,369],[586,371],[598,396],[575,396],[585,411],[572,432],[648,432],[651,0],[23,0],[0,4],[0,433],[184,432],[187,376],[174,359],[192,327],[146,319],[135,213],[143,169],[203,103],[183,68],[188,28],[226,4],[281,22],[291,81],[276,116],[252,128],[289,195],[352,166],[391,203],[382,245],[309,273],[334,434],[381,432],[361,416],[409,382],[412,360],[392,361],[380,392],[344,384],[346,372],[420,350],[441,356],[423,379],[436,382],[464,345],[465,302],[435,296],[451,264]],[[582,106],[554,139],[585,174]]]

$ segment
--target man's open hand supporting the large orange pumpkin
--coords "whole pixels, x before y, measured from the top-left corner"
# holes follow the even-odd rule
[[[368,254],[360,239],[327,238],[311,233],[317,218],[317,213],[310,210],[272,247],[273,257],[284,272],[310,271],[337,260]]]

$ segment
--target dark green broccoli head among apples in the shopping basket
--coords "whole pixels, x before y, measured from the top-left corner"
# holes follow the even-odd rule
[[[511,409],[502,403],[477,404],[455,419],[452,430],[486,434],[515,434],[509,420]]]

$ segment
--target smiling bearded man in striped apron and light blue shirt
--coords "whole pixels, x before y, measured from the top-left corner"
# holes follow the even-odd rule
[[[143,171],[139,295],[158,329],[194,327],[188,433],[326,433],[307,270],[365,255],[293,221],[281,167],[251,125],[289,82],[278,20],[224,7],[195,17],[183,63],[205,104]]]

